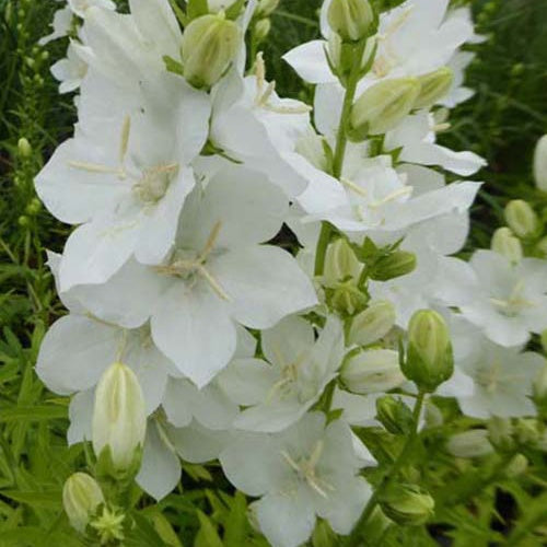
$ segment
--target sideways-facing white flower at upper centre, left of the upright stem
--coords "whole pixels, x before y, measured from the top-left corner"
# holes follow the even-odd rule
[[[210,139],[223,154],[265,173],[294,197],[307,185],[307,173],[301,172],[305,162],[295,148],[311,130],[311,108],[278,96],[276,82],[266,80],[261,54],[255,70],[246,78],[233,70],[214,90]]]

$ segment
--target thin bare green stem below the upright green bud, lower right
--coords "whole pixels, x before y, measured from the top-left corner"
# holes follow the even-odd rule
[[[426,393],[420,392],[418,394],[418,398],[416,399],[416,405],[414,407],[414,424],[412,424],[412,430],[410,431],[410,434],[408,435],[405,445],[403,446],[403,450],[400,451],[399,455],[393,463],[391,469],[387,472],[386,475],[384,475],[384,478],[377,486],[377,488],[374,490],[374,493],[371,496],[371,499],[369,500],[369,503],[364,508],[364,511],[359,519],[358,523],[356,524],[353,532],[348,536],[346,543],[344,544],[344,547],[359,547],[361,545],[361,533],[366,526],[366,523],[369,522],[369,519],[371,517],[374,509],[379,504],[380,500],[382,499],[382,496],[386,491],[386,489],[389,487],[392,481],[397,477],[398,473],[400,472],[400,468],[405,464],[405,462],[408,461],[408,456],[410,452],[414,449],[415,441],[418,437],[418,423],[420,420],[420,414],[421,409],[423,408],[423,401],[426,399]]]

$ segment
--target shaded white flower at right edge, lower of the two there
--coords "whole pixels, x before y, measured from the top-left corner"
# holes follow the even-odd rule
[[[455,394],[465,415],[487,419],[536,414],[532,403],[533,382],[545,366],[542,356],[499,346],[484,336],[474,336],[469,329],[465,339],[456,336],[453,341],[456,368],[475,384],[473,393]]]

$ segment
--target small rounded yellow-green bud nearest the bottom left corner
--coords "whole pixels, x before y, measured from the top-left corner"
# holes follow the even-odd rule
[[[104,503],[103,492],[96,480],[85,473],[74,473],[62,488],[62,504],[70,524],[83,533],[90,516]]]

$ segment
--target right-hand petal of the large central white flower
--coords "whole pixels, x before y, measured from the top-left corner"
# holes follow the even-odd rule
[[[310,279],[279,247],[236,249],[212,263],[211,271],[232,299],[233,316],[252,328],[269,328],[317,303]]]

